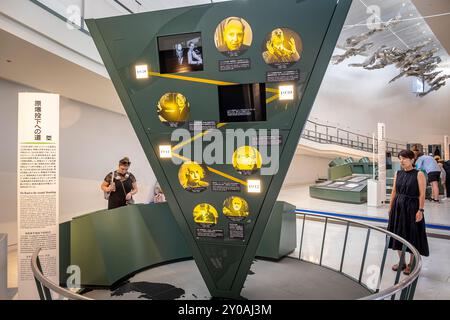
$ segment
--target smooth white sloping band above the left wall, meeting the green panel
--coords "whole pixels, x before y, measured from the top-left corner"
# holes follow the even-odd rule
[[[111,80],[0,29],[0,77],[124,113]]]

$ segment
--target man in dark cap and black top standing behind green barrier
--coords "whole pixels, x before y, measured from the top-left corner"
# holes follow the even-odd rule
[[[133,196],[138,193],[136,178],[131,172],[130,159],[124,157],[119,161],[116,171],[110,172],[103,181],[101,188],[108,196],[108,210],[133,204]]]

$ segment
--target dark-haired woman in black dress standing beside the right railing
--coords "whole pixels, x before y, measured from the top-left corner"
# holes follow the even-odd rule
[[[424,204],[426,179],[423,172],[414,169],[414,153],[403,150],[398,158],[402,170],[394,178],[394,187],[391,195],[391,208],[389,212],[388,230],[411,243],[422,256],[429,256],[428,240],[425,230]],[[389,248],[397,250],[401,258],[403,244],[395,239],[389,242]],[[410,252],[408,250],[408,252]],[[411,253],[411,252],[410,252]],[[403,273],[411,273],[411,264],[414,256],[410,254],[410,263],[406,265],[400,261],[392,267],[397,271],[401,265]]]

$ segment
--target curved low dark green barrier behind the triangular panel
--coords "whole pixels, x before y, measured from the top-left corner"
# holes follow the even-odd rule
[[[295,206],[277,202],[257,256],[280,259],[296,247]],[[114,288],[148,268],[192,259],[167,203],[132,205],[83,215],[60,225],[60,283],[69,265],[81,286]],[[203,282],[203,281],[202,281]]]

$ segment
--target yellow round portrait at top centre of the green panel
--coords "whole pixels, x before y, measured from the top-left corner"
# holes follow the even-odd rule
[[[252,45],[252,27],[243,18],[228,17],[217,26],[214,41],[224,55],[240,56]]]

